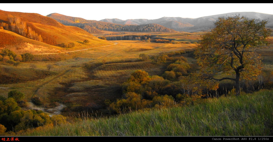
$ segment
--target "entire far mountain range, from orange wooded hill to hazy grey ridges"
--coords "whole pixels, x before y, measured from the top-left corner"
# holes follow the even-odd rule
[[[245,16],[251,19],[267,20],[268,24],[266,25],[266,27],[270,27],[270,28],[273,27],[272,14],[263,14],[263,13],[257,13],[257,12],[232,12],[232,13],[226,13],[226,14],[218,14],[218,15],[194,18],[194,19],[181,18],[181,17],[162,17],[159,19],[128,19],[128,20],[103,19],[103,20],[96,21],[96,20],[86,20],[79,17],[65,16],[58,13],[49,14],[47,15],[47,17],[56,19],[58,22],[61,22],[64,25],[72,25],[72,26],[80,27],[84,30],[87,30],[90,33],[99,33],[99,30],[108,30],[108,31],[123,30],[124,31],[125,25],[134,25],[135,27],[131,26],[130,30],[132,31],[132,29],[134,30],[143,29],[144,26],[142,25],[145,25],[147,27],[147,24],[157,24],[157,25],[164,26],[166,27],[166,29],[168,29],[168,30],[164,29],[167,32],[171,31],[169,29],[172,29],[175,31],[196,32],[196,31],[212,29],[214,27],[214,22],[217,21],[218,17],[228,17],[235,14],[240,16]],[[109,23],[112,25],[109,25]],[[153,26],[157,26],[157,25],[153,25]],[[139,27],[139,26],[142,26],[142,27]],[[141,31],[144,31],[144,30],[141,30]],[[140,32],[140,30],[137,30],[137,32]],[[171,31],[171,32],[174,32],[174,31]]]

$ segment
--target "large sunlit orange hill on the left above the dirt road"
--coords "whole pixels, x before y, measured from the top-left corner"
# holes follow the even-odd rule
[[[84,40],[88,40],[89,44],[83,44]],[[74,46],[62,48],[62,43]],[[15,53],[56,53],[109,44],[112,43],[50,17],[0,10],[0,49],[9,48]]]

